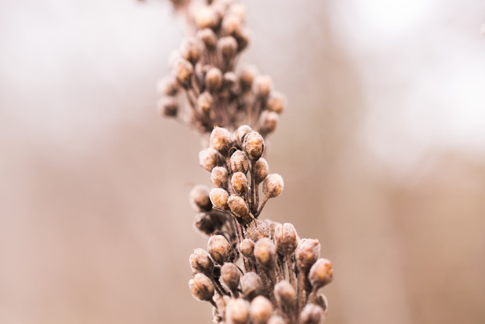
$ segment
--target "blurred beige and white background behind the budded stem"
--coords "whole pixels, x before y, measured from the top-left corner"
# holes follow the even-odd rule
[[[289,98],[262,217],[322,242],[326,323],[485,323],[485,3],[243,3]],[[168,1],[0,1],[0,323],[211,323],[200,139],[155,110],[182,36]]]

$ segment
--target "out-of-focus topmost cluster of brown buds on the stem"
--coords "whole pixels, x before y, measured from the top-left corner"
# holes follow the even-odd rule
[[[286,97],[254,66],[235,69],[250,41],[245,7],[231,0],[172,3],[186,14],[193,36],[183,39],[171,55],[172,73],[157,86],[160,113],[202,133],[214,126],[235,130],[242,124],[263,136],[272,133]]]

